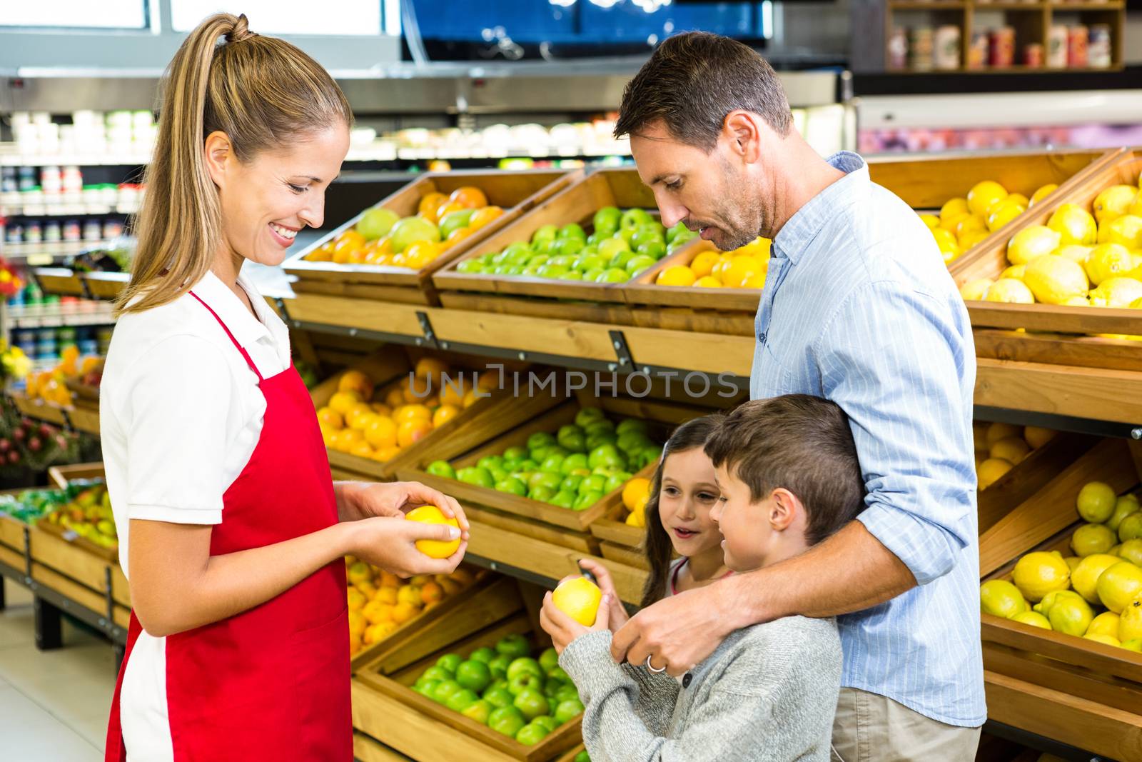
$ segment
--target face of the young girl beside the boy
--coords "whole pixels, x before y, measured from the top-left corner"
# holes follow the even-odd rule
[[[658,516],[679,555],[698,555],[721,545],[722,532],[710,519],[719,496],[714,466],[702,448],[667,456]]]

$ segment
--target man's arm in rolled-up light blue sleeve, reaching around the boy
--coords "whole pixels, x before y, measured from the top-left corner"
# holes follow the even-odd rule
[[[866,479],[858,521],[796,559],[638,612],[616,633],[616,660],[653,655],[682,674],[733,629],[860,611],[951,570],[975,531],[959,380],[972,348],[934,307],[895,283],[874,283],[838,307],[815,347],[822,391],[849,415]]]

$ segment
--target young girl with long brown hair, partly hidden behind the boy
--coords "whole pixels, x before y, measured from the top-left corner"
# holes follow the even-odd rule
[[[646,500],[646,537],[643,551],[650,575],[640,608],[668,595],[705,587],[730,573],[722,559],[722,532],[710,520],[718,488],[714,466],[702,452],[721,414],[694,418],[678,426],[662,447],[662,459],[650,482]],[[674,560],[674,555],[679,558]],[[610,628],[618,632],[627,620],[606,567],[590,560],[581,566],[595,575],[608,595]]]

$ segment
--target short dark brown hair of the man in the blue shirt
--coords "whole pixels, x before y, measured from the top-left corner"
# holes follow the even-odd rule
[[[614,137],[659,120],[676,139],[709,153],[731,111],[751,111],[785,137],[793,125],[778,75],[748,46],[719,34],[667,38],[622,91]]]

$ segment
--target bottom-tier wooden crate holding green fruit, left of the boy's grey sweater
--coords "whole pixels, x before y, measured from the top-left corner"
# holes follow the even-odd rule
[[[513,595],[514,592],[514,595]],[[474,762],[547,762],[562,759],[581,744],[581,717],[570,720],[542,741],[524,746],[412,690],[416,679],[444,653],[467,655],[494,645],[506,635],[525,635],[533,649],[550,644],[534,627],[518,589],[502,589],[504,611],[491,625],[482,619],[456,624],[427,655],[396,649],[364,666],[353,681],[353,727],[413,759]]]

